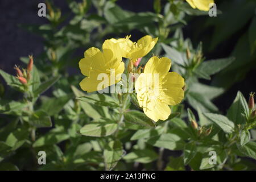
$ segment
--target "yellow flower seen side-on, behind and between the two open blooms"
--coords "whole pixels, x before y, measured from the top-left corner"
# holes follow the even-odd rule
[[[152,38],[150,35],[143,36],[137,43],[130,40],[131,36],[121,39],[110,39],[113,43],[119,45],[119,52],[122,57],[126,57],[131,60],[137,60],[140,57],[146,56],[148,52],[154,48],[158,38]]]

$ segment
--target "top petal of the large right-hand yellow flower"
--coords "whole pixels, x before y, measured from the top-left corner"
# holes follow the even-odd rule
[[[171,60],[168,59],[167,57],[162,57],[162,58],[158,58],[156,56],[153,56],[150,58],[150,60],[148,60],[145,69],[144,69],[144,73],[147,74],[152,74],[154,75],[159,74],[159,81],[161,80],[161,78],[163,78],[164,76],[166,76],[166,74],[170,71],[171,68]]]

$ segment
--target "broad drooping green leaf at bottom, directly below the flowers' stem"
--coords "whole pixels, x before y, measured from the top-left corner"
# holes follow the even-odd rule
[[[112,170],[122,158],[122,143],[119,140],[109,142],[104,149],[103,155],[106,170]]]

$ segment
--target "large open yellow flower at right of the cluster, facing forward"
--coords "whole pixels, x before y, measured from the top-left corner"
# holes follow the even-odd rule
[[[179,104],[184,98],[184,78],[176,72],[169,72],[170,68],[170,59],[153,56],[135,82],[139,105],[155,122],[166,120],[171,114],[168,105]]]

